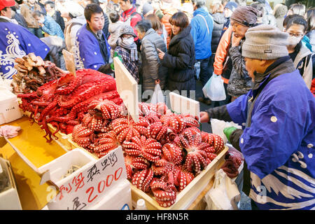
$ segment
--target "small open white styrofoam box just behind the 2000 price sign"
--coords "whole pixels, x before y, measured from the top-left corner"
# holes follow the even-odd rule
[[[65,153],[59,158],[48,162],[38,168],[38,171],[43,173],[46,170],[50,171],[50,180],[55,183],[58,187],[62,186],[66,181],[72,179],[73,176],[79,174],[85,167],[89,167],[90,164],[95,162],[96,159],[80,148],[74,148],[72,151]],[[71,175],[66,176],[62,179],[62,176],[71,169],[71,165],[76,165],[80,169],[73,172]]]

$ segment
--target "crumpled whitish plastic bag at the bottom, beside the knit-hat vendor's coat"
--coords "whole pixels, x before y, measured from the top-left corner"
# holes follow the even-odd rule
[[[215,174],[214,186],[204,195],[206,210],[238,210],[241,193],[237,184],[219,169]]]

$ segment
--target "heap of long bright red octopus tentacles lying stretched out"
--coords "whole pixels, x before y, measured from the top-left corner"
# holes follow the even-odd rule
[[[18,94],[18,97],[22,101],[20,108],[29,111],[30,118],[42,126],[48,142],[59,130],[71,133],[74,125],[82,121],[87,106],[94,99],[109,99],[116,104],[122,102],[116,91],[115,79],[92,69],[79,70],[76,76],[64,73],[61,78],[45,83],[36,92]],[[50,131],[48,123],[56,128],[55,132]]]

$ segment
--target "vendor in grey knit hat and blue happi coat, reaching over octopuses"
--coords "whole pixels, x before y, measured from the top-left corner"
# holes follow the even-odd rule
[[[223,132],[244,155],[252,210],[314,208],[315,98],[288,56],[287,38],[271,25],[249,28],[241,55],[255,85],[234,102],[200,113],[201,122],[244,125]],[[268,190],[261,195],[262,189]],[[309,197],[296,197],[302,193]]]

